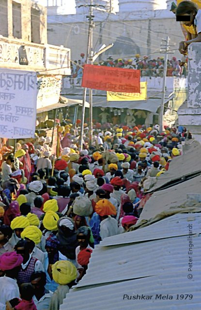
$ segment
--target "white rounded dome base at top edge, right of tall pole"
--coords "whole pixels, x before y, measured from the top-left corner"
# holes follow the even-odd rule
[[[119,0],[120,12],[154,11],[166,8],[166,0]]]

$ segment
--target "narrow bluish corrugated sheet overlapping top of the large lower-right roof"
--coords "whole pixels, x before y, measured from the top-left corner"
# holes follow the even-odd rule
[[[201,233],[201,213],[175,214],[150,226],[129,233],[121,233],[101,241],[101,246],[121,245],[142,241],[170,238],[188,234],[186,225],[193,220],[193,233]]]

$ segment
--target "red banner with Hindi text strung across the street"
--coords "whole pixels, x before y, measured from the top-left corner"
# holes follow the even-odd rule
[[[140,70],[85,64],[82,87],[108,92],[140,93]]]

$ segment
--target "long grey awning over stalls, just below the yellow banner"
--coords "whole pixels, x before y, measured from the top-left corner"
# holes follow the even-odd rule
[[[174,97],[173,93],[166,94],[165,104]],[[81,99],[80,94],[69,95],[68,98],[79,100]],[[89,96],[86,96],[86,100],[89,100]],[[116,109],[139,109],[146,110],[150,112],[156,112],[161,105],[161,93],[157,95],[150,96],[145,101],[107,101],[106,96],[93,95],[93,108],[102,107],[102,108],[116,108]]]

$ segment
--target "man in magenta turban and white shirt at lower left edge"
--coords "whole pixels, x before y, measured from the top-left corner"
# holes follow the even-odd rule
[[[15,252],[6,252],[0,256],[0,269],[5,270],[5,276],[0,277],[0,310],[6,310],[6,301],[19,298],[17,275],[23,257]]]

